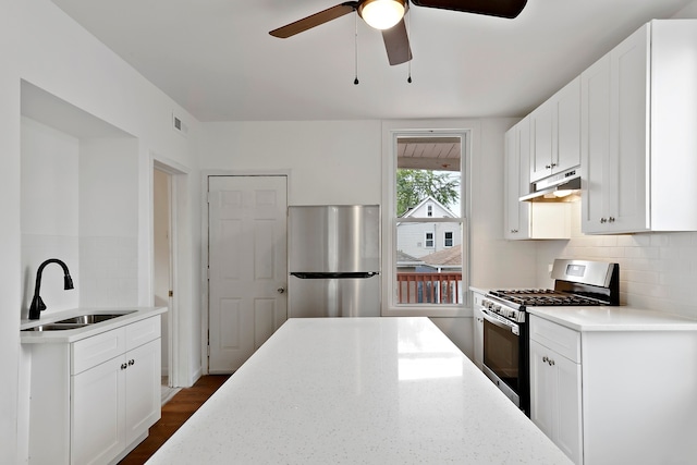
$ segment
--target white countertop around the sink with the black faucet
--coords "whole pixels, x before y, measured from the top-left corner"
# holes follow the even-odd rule
[[[60,321],[65,318],[72,318],[81,315],[105,315],[129,311],[117,318],[98,323],[87,325],[83,328],[66,329],[60,331],[22,331],[24,329],[34,328],[41,325],[48,325]],[[145,318],[154,317],[167,311],[167,307],[118,307],[118,308],[74,308],[64,311],[57,311],[50,315],[41,316],[38,320],[24,319],[20,322],[20,342],[22,344],[53,344],[64,342],[76,342],[85,338],[130,325]]]

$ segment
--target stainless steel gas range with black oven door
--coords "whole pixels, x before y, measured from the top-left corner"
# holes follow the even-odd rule
[[[557,259],[554,289],[489,291],[484,314],[484,372],[529,415],[529,307],[620,305],[620,266]]]

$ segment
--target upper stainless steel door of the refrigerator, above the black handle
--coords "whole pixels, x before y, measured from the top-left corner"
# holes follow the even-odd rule
[[[289,207],[291,272],[380,271],[380,207]]]

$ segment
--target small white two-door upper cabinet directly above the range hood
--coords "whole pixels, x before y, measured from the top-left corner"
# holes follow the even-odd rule
[[[535,109],[530,120],[530,182],[580,163],[580,78]]]

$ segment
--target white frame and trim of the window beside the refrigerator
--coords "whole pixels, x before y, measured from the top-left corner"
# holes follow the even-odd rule
[[[469,292],[472,268],[472,150],[478,144],[480,123],[474,120],[383,121],[382,123],[382,315],[426,317],[470,317]],[[461,137],[461,211],[460,218],[429,218],[437,222],[462,224],[462,294],[461,304],[396,303],[396,224],[409,219],[396,218],[396,144],[402,137]],[[454,233],[453,233],[454,234]]]

